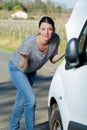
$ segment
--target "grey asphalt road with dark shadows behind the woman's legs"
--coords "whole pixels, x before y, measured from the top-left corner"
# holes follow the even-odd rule
[[[0,130],[8,130],[15,101],[16,88],[8,75],[7,64],[11,53],[0,50]],[[48,91],[58,64],[47,62],[38,72],[34,83],[36,94],[36,130],[49,130],[48,125]],[[24,116],[21,119],[20,130],[25,130]]]

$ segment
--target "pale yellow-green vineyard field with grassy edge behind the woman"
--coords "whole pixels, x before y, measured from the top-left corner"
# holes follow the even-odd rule
[[[60,51],[66,45],[65,23],[69,16],[63,14],[56,18],[56,32],[60,35]],[[14,51],[23,39],[31,34],[38,33],[38,20],[0,20],[0,48]]]

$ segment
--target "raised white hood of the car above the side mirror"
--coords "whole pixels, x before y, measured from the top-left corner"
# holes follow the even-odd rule
[[[87,20],[87,0],[78,0],[72,14],[65,24],[67,40],[78,38],[82,27]]]

